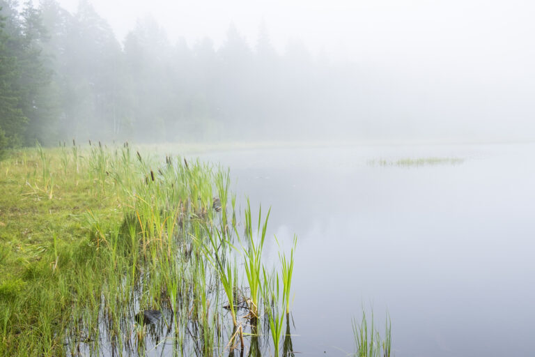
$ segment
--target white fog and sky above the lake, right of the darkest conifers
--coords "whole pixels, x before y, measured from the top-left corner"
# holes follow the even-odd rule
[[[59,98],[42,140],[534,137],[529,1],[34,6]]]

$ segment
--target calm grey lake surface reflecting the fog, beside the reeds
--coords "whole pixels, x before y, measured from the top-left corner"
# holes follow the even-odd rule
[[[458,165],[370,165],[384,158]],[[535,145],[355,146],[201,155],[298,236],[295,351],[345,356],[373,305],[395,356],[535,356]],[[277,251],[266,247],[267,255]]]

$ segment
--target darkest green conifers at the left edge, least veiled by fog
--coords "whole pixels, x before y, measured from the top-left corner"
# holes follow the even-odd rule
[[[47,128],[56,113],[48,108],[50,71],[43,67],[45,29],[31,1],[0,1],[0,128],[2,147],[49,139]]]

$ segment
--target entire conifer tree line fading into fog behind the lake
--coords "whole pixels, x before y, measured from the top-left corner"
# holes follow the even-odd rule
[[[0,8],[0,147],[293,139],[355,121],[354,68],[298,41],[279,54],[265,26],[249,45],[231,25],[216,48],[171,43],[146,17],[120,42],[87,0]]]

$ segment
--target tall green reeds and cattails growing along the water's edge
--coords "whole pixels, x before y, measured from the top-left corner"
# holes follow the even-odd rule
[[[64,152],[59,154],[66,157]],[[173,326],[180,353],[191,352],[186,348],[189,339],[192,345],[196,343],[192,341],[202,341],[201,354],[220,354],[224,344],[217,341],[224,338],[222,331],[228,331],[226,326],[230,323],[221,310],[220,298],[228,301],[231,312],[231,340],[239,340],[243,349],[247,336],[245,319],[267,319],[278,351],[285,307],[289,311],[286,287],[289,291],[291,278],[287,277],[291,277],[293,270],[293,250],[289,258],[280,258],[286,264],[281,273],[265,271],[262,252],[270,211],[263,218],[260,210],[258,222],[253,222],[248,200],[245,234],[240,236],[235,195],[228,191],[228,170],[214,171],[211,165],[198,160],[171,157],[161,164],[127,145],[112,152],[102,145],[82,150],[73,141],[72,155],[72,160],[63,162],[63,173],[67,170],[77,174],[64,176],[75,179],[76,185],[80,182],[93,197],[110,197],[114,209],[111,213],[89,207],[85,219],[79,220],[91,236],[82,252],[69,253],[70,259],[79,257],[76,265],[54,268],[63,267],[67,261],[67,245],[61,243],[58,235],[53,236],[50,258],[56,261],[52,266],[54,276],[62,281],[55,289],[62,296],[76,297],[65,307],[72,312],[68,333],[76,336],[69,340],[70,351],[76,351],[79,336],[83,335],[87,341],[93,340],[88,343],[91,353],[99,354],[100,333],[105,333],[102,338],[113,341],[110,343],[118,346],[119,351],[134,340],[140,348],[146,348],[147,331],[134,331],[128,324],[131,310],[137,306],[172,312],[172,321],[165,324]],[[71,185],[74,181],[65,179],[65,183]],[[231,220],[227,216],[229,196]],[[215,209],[215,197],[221,202],[220,212]],[[118,219],[110,218],[110,213]],[[235,237],[241,237],[240,249],[233,245]],[[238,261],[245,261],[243,271]],[[66,273],[70,276],[66,277]],[[245,291],[244,277],[251,294],[246,317],[238,314],[238,308],[245,308],[238,306],[243,300],[241,291]],[[47,326],[56,329],[49,324],[52,317],[43,318],[45,332],[49,331]],[[187,328],[192,326],[196,326],[192,331],[197,332],[189,336]],[[57,330],[54,333],[58,335]],[[132,336],[137,337],[131,339]],[[42,341],[57,343],[57,337],[52,340]]]

